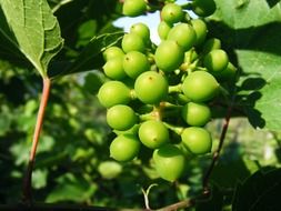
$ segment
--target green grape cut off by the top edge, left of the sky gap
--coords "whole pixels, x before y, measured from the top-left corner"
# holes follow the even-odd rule
[[[144,13],[147,3],[144,0],[124,0],[122,12],[128,17],[138,17]]]

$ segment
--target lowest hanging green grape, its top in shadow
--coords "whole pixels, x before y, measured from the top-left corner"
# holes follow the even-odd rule
[[[153,161],[159,175],[170,182],[179,179],[185,169],[183,152],[172,144],[164,144],[154,150]]]

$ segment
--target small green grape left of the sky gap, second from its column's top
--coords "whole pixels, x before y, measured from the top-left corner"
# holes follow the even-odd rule
[[[127,53],[130,51],[145,51],[145,43],[142,38],[137,33],[124,34],[121,46],[123,51]]]

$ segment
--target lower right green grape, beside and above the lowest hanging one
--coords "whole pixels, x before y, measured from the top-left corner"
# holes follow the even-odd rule
[[[205,154],[212,149],[212,138],[210,132],[203,128],[185,128],[181,134],[183,144],[193,154]]]

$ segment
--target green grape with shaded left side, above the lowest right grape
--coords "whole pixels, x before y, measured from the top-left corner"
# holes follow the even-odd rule
[[[204,103],[189,102],[182,107],[182,119],[189,125],[202,127],[211,119],[211,110]]]

